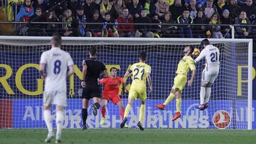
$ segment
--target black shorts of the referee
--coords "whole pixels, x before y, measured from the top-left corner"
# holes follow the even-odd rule
[[[101,87],[98,84],[86,83],[85,88],[82,89],[82,99],[92,99],[94,97],[102,97]]]

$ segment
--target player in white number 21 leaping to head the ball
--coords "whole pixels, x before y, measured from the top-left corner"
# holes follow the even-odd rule
[[[210,99],[211,86],[215,79],[218,77],[220,70],[220,51],[213,45],[210,45],[208,39],[204,39],[201,42],[203,50],[196,58],[195,62],[199,62],[206,58],[206,67],[203,70],[201,78],[201,90],[200,90],[200,105],[198,109],[203,111],[208,108],[208,102]]]

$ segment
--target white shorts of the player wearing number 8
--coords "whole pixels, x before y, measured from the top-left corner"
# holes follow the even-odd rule
[[[66,92],[43,92],[43,106],[50,106],[51,104],[67,106]]]

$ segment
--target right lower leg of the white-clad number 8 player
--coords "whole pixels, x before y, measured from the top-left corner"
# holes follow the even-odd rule
[[[56,106],[56,126],[57,126],[57,132],[56,132],[56,139],[55,143],[61,143],[61,131],[63,128],[63,121],[64,121],[64,106]]]

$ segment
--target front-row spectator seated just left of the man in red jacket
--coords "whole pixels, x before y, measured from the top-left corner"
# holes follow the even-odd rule
[[[109,23],[114,23],[114,25],[110,25]],[[117,28],[117,23],[112,21],[110,13],[105,13],[105,21],[102,28],[102,37],[119,37]]]

